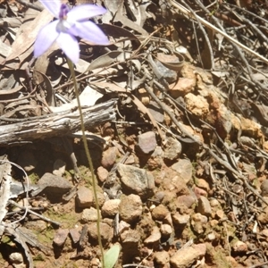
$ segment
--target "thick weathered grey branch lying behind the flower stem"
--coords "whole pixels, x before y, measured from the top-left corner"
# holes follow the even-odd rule
[[[91,107],[82,107],[86,128],[115,120],[115,100]],[[4,124],[12,119],[0,117],[0,146],[20,144],[38,138],[59,137],[80,130],[80,115],[77,109],[60,113],[22,119],[16,123]],[[3,125],[4,124],[4,125]]]

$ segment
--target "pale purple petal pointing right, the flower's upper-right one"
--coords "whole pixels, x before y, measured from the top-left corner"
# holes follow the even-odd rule
[[[102,15],[105,12],[106,10],[102,6],[95,4],[81,4],[72,8],[67,17],[71,21],[84,21],[86,19]]]

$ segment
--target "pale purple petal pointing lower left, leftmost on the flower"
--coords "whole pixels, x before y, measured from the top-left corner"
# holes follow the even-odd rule
[[[34,57],[37,58],[39,55],[44,54],[59,36],[59,33],[56,31],[58,22],[59,21],[52,21],[39,30],[34,45]]]

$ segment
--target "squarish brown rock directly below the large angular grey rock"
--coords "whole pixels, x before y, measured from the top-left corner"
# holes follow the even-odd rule
[[[134,222],[138,220],[142,214],[142,202],[140,197],[137,195],[121,197],[119,214],[121,220],[125,222]]]

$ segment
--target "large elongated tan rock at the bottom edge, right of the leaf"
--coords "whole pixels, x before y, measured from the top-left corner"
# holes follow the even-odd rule
[[[203,257],[206,252],[205,244],[193,245],[191,247],[183,247],[171,257],[173,268],[191,267],[198,259]]]

